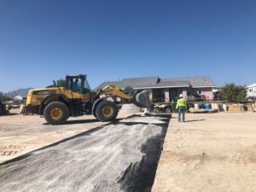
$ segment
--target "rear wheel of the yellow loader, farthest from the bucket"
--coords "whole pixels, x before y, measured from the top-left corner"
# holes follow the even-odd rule
[[[62,125],[65,124],[69,117],[69,110],[67,105],[63,102],[50,102],[44,108],[44,119],[49,125]]]

